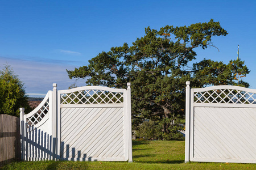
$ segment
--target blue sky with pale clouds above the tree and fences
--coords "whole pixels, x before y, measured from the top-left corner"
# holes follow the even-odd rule
[[[251,70],[243,78],[256,88],[256,1],[0,1],[0,67],[8,63],[30,96],[43,97],[75,83],[65,69],[123,42],[131,45],[144,28],[220,22],[229,32],[214,37],[215,48],[198,49],[197,59],[228,63],[240,58]],[[84,80],[77,81],[83,86]]]

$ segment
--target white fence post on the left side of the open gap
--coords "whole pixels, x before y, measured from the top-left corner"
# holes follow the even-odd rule
[[[131,140],[131,83],[127,83],[127,112],[128,112],[128,162],[133,162],[133,143]]]

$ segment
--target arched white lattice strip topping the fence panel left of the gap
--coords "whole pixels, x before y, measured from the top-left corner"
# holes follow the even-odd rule
[[[61,104],[113,104],[123,103],[122,92],[105,90],[81,90],[69,94],[61,94]]]

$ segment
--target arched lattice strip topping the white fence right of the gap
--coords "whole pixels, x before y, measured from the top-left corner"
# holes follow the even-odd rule
[[[194,103],[256,104],[256,94],[230,89],[195,92]]]

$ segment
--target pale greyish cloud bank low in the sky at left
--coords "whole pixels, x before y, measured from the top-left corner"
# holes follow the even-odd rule
[[[68,89],[75,79],[69,79],[67,70],[73,70],[75,66],[65,62],[52,61],[28,61],[17,58],[0,57],[0,69],[3,64],[8,63],[18,78],[24,83],[27,95],[31,97],[42,97],[52,90],[52,84],[57,83],[57,90]],[[84,86],[85,80],[78,80],[77,86]]]

